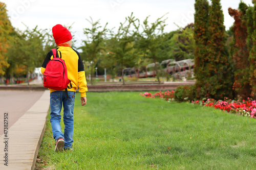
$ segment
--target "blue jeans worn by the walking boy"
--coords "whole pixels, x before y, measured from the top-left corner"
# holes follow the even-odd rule
[[[57,140],[62,137],[65,141],[64,148],[71,148],[73,143],[74,133],[74,101],[75,92],[68,91],[69,98],[67,98],[66,91],[53,91],[50,94],[50,107],[53,138]],[[60,111],[63,103],[63,122],[65,125],[64,134],[61,132],[60,127]]]

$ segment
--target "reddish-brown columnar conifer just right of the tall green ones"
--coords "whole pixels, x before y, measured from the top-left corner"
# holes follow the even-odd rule
[[[247,99],[251,95],[250,71],[249,71],[249,51],[247,48],[247,26],[246,11],[248,7],[245,3],[239,4],[239,10],[228,8],[228,13],[234,18],[232,26],[233,33],[233,49],[232,58],[234,62],[234,84],[233,89],[243,99]]]

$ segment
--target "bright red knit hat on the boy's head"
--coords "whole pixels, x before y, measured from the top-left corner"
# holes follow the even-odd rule
[[[52,28],[53,38],[57,45],[67,42],[72,39],[72,35],[69,30],[60,24],[57,24]]]

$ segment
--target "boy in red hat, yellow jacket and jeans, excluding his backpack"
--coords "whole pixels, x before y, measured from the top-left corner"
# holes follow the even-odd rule
[[[66,91],[50,89],[50,108],[51,108],[51,125],[53,138],[56,140],[55,152],[63,150],[73,150],[73,131],[74,131],[74,100],[75,92],[79,86],[81,95],[81,105],[87,103],[86,92],[88,91],[86,75],[83,68],[83,63],[80,54],[75,51],[72,45],[72,35],[69,30],[61,25],[56,25],[52,28],[53,38],[57,46],[57,51],[60,51],[61,58],[65,60],[68,79],[71,80],[72,88],[68,88],[68,98]],[[59,52],[57,52],[59,53]],[[44,74],[46,65],[53,58],[53,53],[48,52],[44,63],[41,66],[41,72]],[[65,124],[64,134],[60,127],[60,111],[63,104],[63,122]]]

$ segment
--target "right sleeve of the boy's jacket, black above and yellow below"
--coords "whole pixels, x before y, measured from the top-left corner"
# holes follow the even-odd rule
[[[86,81],[86,72],[83,68],[82,59],[80,54],[77,52],[78,55],[78,86],[81,98],[86,97],[86,92],[88,91],[87,88],[87,81]]]

